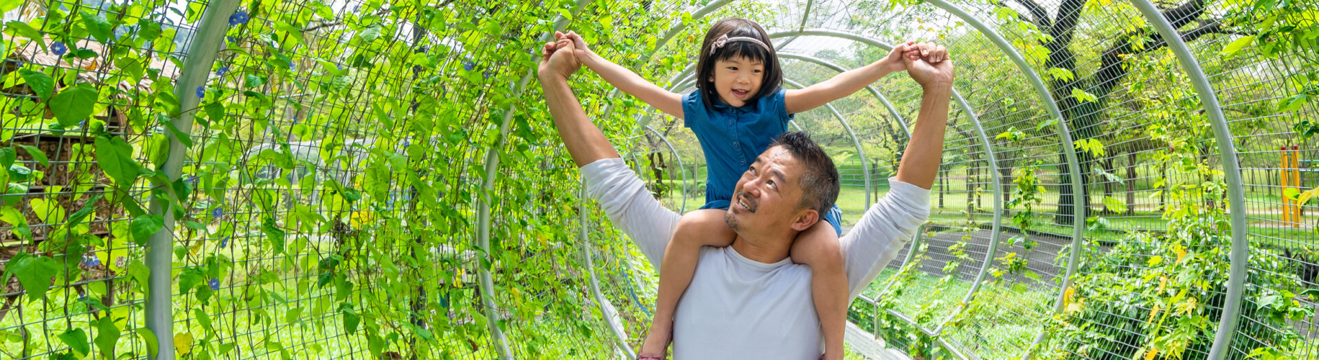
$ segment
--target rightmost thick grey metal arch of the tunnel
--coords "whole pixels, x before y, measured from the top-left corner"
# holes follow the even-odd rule
[[[1241,167],[1237,164],[1236,145],[1232,144],[1232,131],[1223,115],[1217,94],[1213,92],[1213,86],[1210,84],[1204,70],[1200,69],[1200,62],[1186,46],[1186,41],[1149,0],[1132,0],[1132,4],[1163,37],[1167,47],[1182,63],[1182,70],[1191,79],[1191,86],[1195,87],[1195,92],[1204,105],[1204,112],[1212,121],[1213,137],[1219,142],[1224,181],[1228,182],[1228,211],[1232,212],[1232,248],[1228,253],[1231,265],[1228,268],[1227,299],[1223,303],[1223,315],[1219,318],[1219,330],[1213,334],[1213,347],[1210,348],[1208,359],[1221,360],[1227,357],[1227,352],[1232,347],[1232,338],[1236,336],[1236,327],[1240,323],[1241,294],[1245,291],[1246,266],[1249,266],[1250,260],[1250,244],[1246,243],[1245,194],[1241,186]]]

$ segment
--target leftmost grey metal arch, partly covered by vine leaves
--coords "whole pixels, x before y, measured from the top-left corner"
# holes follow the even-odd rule
[[[194,96],[191,90],[206,83],[206,78],[211,73],[211,65],[215,63],[215,54],[219,53],[224,40],[223,29],[227,26],[226,18],[237,7],[239,1],[218,0],[202,12],[202,21],[198,24],[198,29],[222,30],[197,32],[193,34],[194,46],[187,50],[187,57],[183,59],[183,67],[174,87],[174,98],[179,99],[179,108],[193,111],[185,111],[177,117],[170,119],[170,124],[178,129],[177,133],[190,133],[193,129],[193,117],[200,99]],[[165,177],[171,182],[182,175],[183,153],[187,152],[187,146],[183,146],[183,142],[179,142],[174,133],[165,132],[165,137],[169,138],[169,154],[161,167]],[[173,291],[170,290],[173,285],[170,280],[170,268],[173,266],[170,258],[173,257],[174,212],[169,211],[166,203],[156,199],[150,202],[149,211],[152,215],[164,216],[165,222],[160,231],[152,233],[146,244],[145,260],[152,273],[146,281],[146,287],[150,291],[146,297],[144,311],[146,328],[156,334],[156,359],[168,360],[174,359],[174,307],[171,301]]]

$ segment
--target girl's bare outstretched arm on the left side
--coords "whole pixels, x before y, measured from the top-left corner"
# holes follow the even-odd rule
[[[583,41],[582,36],[575,32],[568,32],[567,34],[555,33],[555,36],[562,36],[561,38],[571,38],[572,45],[576,47],[574,54],[578,61],[580,61],[582,65],[586,65],[586,67],[590,67],[591,71],[595,71],[595,74],[599,74],[600,78],[604,78],[605,82],[613,84],[613,87],[623,90],[623,92],[627,92],[628,95],[637,96],[637,99],[641,99],[646,104],[650,104],[673,117],[682,119],[681,94],[663,90],[645,78],[641,78],[637,73],[632,73],[632,70],[628,70],[627,67],[619,66],[617,63],[596,55],[595,51],[587,49],[586,41]]]

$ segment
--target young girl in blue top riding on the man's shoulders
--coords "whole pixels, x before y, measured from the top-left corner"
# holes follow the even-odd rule
[[[557,34],[572,40],[578,61],[624,92],[674,117],[683,119],[700,141],[708,169],[706,204],[678,222],[660,266],[660,294],[650,332],[638,359],[663,359],[673,335],[673,314],[691,284],[700,247],[728,247],[737,236],[724,214],[733,186],[747,167],[778,135],[787,131],[793,113],[809,111],[860,91],[884,75],[906,70],[902,55],[909,44],[882,59],[826,82],[801,88],[782,88],[782,70],[769,34],[745,18],[724,18],[706,32],[696,61],[696,91],[682,95],[656,86],[623,66],[587,49],[574,32]],[[847,315],[847,274],[839,248],[838,207],[793,244],[794,262],[811,266],[811,297],[824,332],[824,359],[843,359]]]

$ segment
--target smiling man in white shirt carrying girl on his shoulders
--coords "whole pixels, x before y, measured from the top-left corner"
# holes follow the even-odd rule
[[[582,67],[572,42],[546,44],[538,73],[545,99],[587,194],[616,227],[632,237],[658,269],[665,245],[681,218],[650,196],[624,165],[613,145],[587,119],[567,78]],[[889,193],[839,239],[849,298],[856,298],[911,239],[929,215],[943,152],[952,88],[952,61],[943,46],[918,44],[904,57],[907,74],[922,86],[921,111],[911,141]],[[836,169],[802,133],[786,133],[737,181],[725,222],[737,232],[727,248],[703,248],[691,285],[674,316],[674,359],[816,359],[822,353],[819,319],[811,305],[810,268],[787,258],[793,239],[819,214],[810,203],[832,203],[838,191],[805,189],[801,181]],[[826,196],[807,199],[803,196]]]

